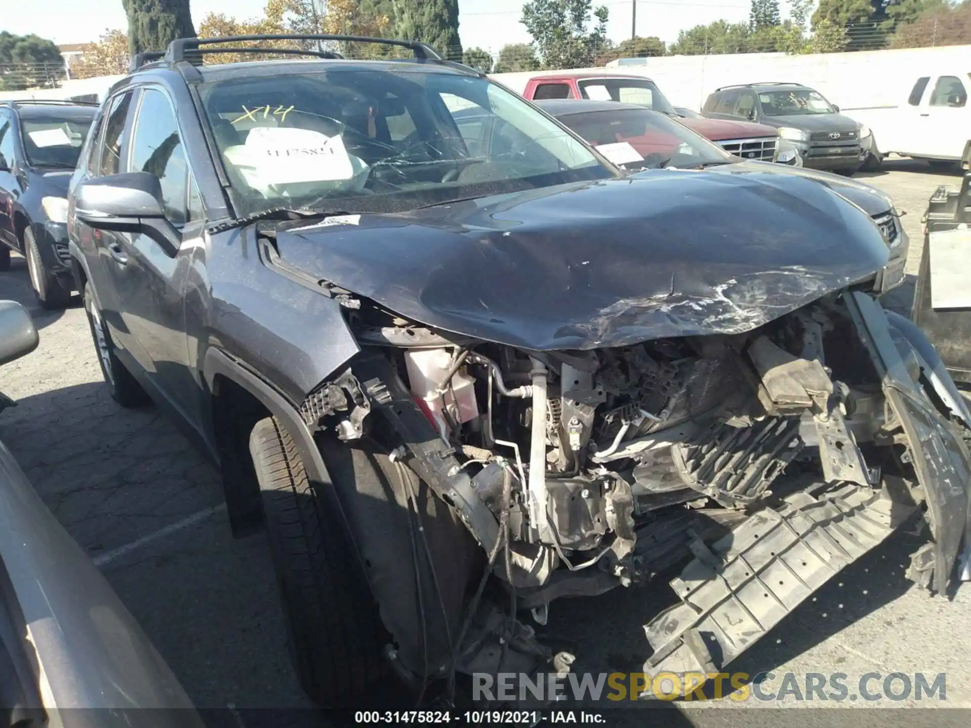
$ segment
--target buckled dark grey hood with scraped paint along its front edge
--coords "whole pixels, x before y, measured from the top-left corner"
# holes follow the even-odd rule
[[[741,333],[887,263],[853,205],[767,173],[656,170],[328,222],[281,231],[282,257],[426,325],[536,350]]]

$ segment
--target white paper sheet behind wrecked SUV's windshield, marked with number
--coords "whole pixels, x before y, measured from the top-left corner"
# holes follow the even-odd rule
[[[226,159],[245,170],[256,188],[294,182],[338,182],[354,176],[351,156],[340,135],[312,129],[256,127],[246,144],[225,150]]]

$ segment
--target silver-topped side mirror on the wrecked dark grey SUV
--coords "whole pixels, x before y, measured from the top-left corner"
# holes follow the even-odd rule
[[[78,182],[74,211],[85,225],[97,230],[143,233],[167,255],[179,252],[182,235],[165,217],[162,188],[148,172],[125,172]]]

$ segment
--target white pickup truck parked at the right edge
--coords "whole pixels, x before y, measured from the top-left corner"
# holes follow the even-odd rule
[[[872,157],[879,166],[890,152],[926,159],[933,166],[951,166],[967,159],[971,139],[971,74],[942,71],[914,78],[899,105],[850,108],[843,113],[870,127]]]

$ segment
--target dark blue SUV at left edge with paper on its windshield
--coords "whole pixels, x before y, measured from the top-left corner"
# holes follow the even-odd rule
[[[67,185],[96,112],[84,102],[0,102],[0,270],[11,250],[21,253],[45,309],[71,300]]]

